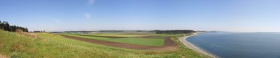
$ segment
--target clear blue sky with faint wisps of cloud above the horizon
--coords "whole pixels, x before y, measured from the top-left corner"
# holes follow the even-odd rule
[[[0,20],[29,31],[280,32],[280,1],[0,0]]]

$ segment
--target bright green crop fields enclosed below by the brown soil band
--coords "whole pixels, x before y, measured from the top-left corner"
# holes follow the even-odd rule
[[[146,46],[163,46],[165,42],[165,38],[168,37],[168,36],[156,36],[156,35],[120,35],[120,34],[78,35],[78,34],[69,34],[69,33],[64,33],[62,35],[83,37],[87,39],[97,39],[102,41],[113,41],[118,43],[146,45]]]

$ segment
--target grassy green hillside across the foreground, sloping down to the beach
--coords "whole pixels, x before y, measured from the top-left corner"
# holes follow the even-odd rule
[[[180,44],[176,51],[133,50],[103,46],[94,43],[66,39],[59,35],[38,33],[36,38],[0,30],[0,54],[9,57],[80,57],[80,58],[205,58],[208,56],[186,48]]]

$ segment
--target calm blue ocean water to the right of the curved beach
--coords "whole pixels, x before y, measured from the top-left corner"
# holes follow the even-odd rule
[[[186,40],[221,58],[280,58],[277,32],[206,32]]]

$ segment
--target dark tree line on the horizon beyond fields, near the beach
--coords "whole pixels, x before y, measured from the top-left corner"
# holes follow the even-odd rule
[[[195,32],[194,30],[155,30],[156,34],[167,34],[167,35],[179,35],[179,34],[190,34]]]

